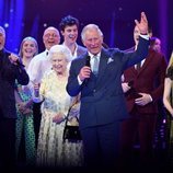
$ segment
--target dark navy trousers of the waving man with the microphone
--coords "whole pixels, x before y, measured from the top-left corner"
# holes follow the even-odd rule
[[[81,130],[86,169],[116,169],[119,142],[119,122],[88,127]]]

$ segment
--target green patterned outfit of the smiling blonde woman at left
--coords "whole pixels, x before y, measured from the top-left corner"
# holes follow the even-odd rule
[[[32,97],[31,91],[27,86],[16,84],[16,91],[22,102],[27,102]],[[36,149],[32,106],[27,108],[27,113],[25,114],[21,113],[16,106],[16,158],[19,157],[21,141],[24,137],[26,164],[33,165],[35,164]]]

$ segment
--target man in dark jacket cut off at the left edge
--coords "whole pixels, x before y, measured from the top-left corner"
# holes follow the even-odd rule
[[[28,76],[19,57],[4,48],[5,31],[0,26],[0,168],[11,169],[15,163],[15,80],[28,83]]]

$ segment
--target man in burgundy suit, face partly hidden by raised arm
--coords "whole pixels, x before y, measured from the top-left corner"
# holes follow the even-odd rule
[[[138,46],[139,34],[138,26],[135,26],[136,46],[128,51],[135,50]],[[139,69],[136,65],[124,72],[123,89],[130,116],[122,125],[120,147],[122,158],[127,163],[132,159],[132,149],[137,139],[140,145],[141,164],[146,166],[152,159],[158,101],[163,95],[165,69],[164,56],[150,48],[149,55],[141,61]]]

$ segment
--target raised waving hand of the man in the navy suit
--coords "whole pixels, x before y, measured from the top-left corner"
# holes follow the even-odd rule
[[[139,28],[140,34],[142,35],[148,34],[148,20],[145,12],[141,12],[140,22],[138,22],[138,20],[135,20],[135,23],[137,27]]]

